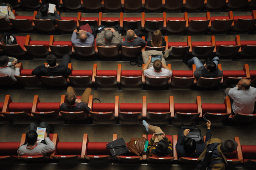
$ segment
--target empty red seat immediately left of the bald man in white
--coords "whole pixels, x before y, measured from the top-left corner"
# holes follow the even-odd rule
[[[232,117],[230,97],[225,97],[224,104],[203,103],[202,113],[203,117],[211,122],[224,122],[230,120]]]

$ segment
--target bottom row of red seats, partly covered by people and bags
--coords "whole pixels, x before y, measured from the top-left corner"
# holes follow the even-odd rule
[[[131,136],[132,137],[132,136]],[[152,134],[143,135],[148,140],[151,139]],[[180,157],[177,155],[176,144],[177,135],[166,135],[173,144],[173,153],[171,156],[137,156],[134,153],[125,153],[121,156],[116,156],[116,160],[120,162],[134,163],[148,161],[151,163],[181,163],[181,164],[196,164],[198,158]],[[204,136],[204,140],[205,140]],[[58,161],[60,163],[79,163],[87,161],[88,163],[110,163],[111,153],[106,148],[108,142],[90,142],[87,133],[84,133],[82,142],[61,142],[58,139],[58,134],[50,133],[49,138],[55,144],[54,152],[47,156],[17,156],[17,148],[26,141],[26,134],[22,134],[21,142],[0,142],[0,162],[15,162],[18,160],[26,162],[44,162],[44,161]],[[113,141],[116,140],[117,134],[113,134]],[[256,145],[241,145],[239,137],[234,137],[238,143],[238,147],[232,153],[227,154],[228,165],[250,165],[256,166],[255,155]]]

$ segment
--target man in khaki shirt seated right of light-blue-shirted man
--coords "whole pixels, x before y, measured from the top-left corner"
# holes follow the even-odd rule
[[[114,28],[105,28],[105,31],[97,34],[96,44],[99,46],[117,46],[119,49],[123,41],[121,35]]]

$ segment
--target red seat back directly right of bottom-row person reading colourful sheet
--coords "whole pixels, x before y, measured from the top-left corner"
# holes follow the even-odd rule
[[[58,142],[56,150],[59,155],[81,155],[82,142]]]

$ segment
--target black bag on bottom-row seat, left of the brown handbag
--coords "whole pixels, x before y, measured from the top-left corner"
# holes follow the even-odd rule
[[[114,140],[113,142],[108,143],[106,147],[111,152],[112,160],[116,159],[116,155],[119,156],[129,152],[128,147],[123,138],[119,138]]]

